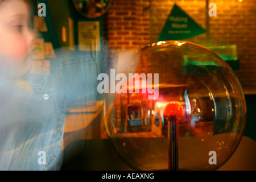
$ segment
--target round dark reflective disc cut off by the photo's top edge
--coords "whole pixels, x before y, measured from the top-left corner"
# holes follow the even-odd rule
[[[73,0],[77,11],[86,18],[98,18],[109,9],[112,0]]]

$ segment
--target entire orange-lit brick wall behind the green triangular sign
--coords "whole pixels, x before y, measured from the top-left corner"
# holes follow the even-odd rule
[[[110,45],[131,49],[156,42],[175,2],[206,30],[205,0],[113,0],[106,28]],[[256,93],[256,1],[211,2],[216,3],[217,16],[209,17],[209,43],[211,46],[237,45],[240,70],[234,72],[245,93]],[[207,46],[207,34],[187,41]]]

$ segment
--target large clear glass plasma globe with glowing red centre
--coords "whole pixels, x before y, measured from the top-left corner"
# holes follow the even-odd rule
[[[105,97],[105,128],[119,156],[136,170],[170,169],[175,147],[170,123],[175,123],[177,170],[213,170],[227,162],[246,121],[243,91],[229,65],[209,49],[183,41],[151,44],[133,60],[141,83],[144,75],[150,80],[146,92],[143,85],[140,92],[129,85],[134,73],[122,92]],[[150,98],[152,88],[157,95]]]

